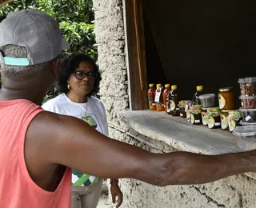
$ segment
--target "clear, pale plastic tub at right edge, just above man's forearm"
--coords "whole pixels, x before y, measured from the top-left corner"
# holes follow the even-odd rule
[[[256,149],[256,126],[238,126],[234,129],[233,134],[242,150]]]

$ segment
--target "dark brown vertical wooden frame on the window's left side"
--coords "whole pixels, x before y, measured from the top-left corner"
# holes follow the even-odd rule
[[[142,0],[123,0],[130,110],[147,104],[146,53]]]

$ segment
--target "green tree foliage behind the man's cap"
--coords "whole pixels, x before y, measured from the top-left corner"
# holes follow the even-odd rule
[[[97,58],[92,6],[92,0],[15,0],[0,7],[0,22],[12,11],[42,10],[59,22],[63,37],[70,42],[67,53],[85,52]]]

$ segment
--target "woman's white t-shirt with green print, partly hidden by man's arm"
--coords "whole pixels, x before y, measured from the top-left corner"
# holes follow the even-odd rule
[[[69,115],[80,118],[93,126],[98,132],[108,136],[106,121],[106,110],[103,103],[93,96],[87,99],[86,103],[72,102],[66,94],[60,94],[42,105],[42,109],[56,114]],[[82,174],[73,170],[72,183],[74,186],[90,186],[98,182],[98,178]]]

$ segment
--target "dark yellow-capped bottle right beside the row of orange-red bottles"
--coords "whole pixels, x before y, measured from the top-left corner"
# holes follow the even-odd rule
[[[171,86],[171,90],[167,98],[167,114],[172,114],[173,116],[180,116],[178,106],[178,102],[180,101],[181,98],[178,92],[178,87],[176,85]]]

